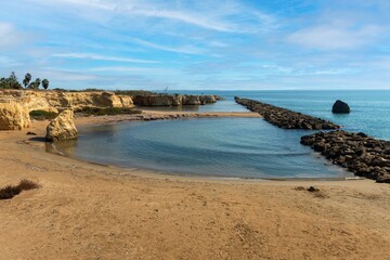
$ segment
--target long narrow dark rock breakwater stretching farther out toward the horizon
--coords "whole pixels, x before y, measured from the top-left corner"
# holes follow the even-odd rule
[[[340,126],[330,121],[296,113],[283,107],[270,105],[259,101],[249,99],[234,98],[235,102],[247,107],[251,112],[257,112],[263,118],[280,128],[284,129],[307,129],[307,130],[322,130],[322,129],[339,129]]]

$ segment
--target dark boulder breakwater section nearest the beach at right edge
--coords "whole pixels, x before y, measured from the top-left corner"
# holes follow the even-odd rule
[[[389,141],[339,130],[304,135],[301,143],[359,177],[390,183]]]

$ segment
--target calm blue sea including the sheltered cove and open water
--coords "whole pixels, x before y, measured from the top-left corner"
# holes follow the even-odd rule
[[[234,96],[321,117],[347,131],[390,140],[390,90],[171,91],[217,94],[216,104],[153,107],[161,110],[246,112]],[[350,114],[336,115],[336,100]],[[146,107],[146,109],[148,109]],[[128,121],[79,129],[79,139],[56,144],[67,156],[158,173],[232,179],[346,179],[344,171],[300,144],[314,131],[285,130],[261,118],[193,118]]]

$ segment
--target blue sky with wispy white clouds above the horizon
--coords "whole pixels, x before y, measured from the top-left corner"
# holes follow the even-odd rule
[[[0,75],[50,88],[390,89],[388,0],[1,1]]]

